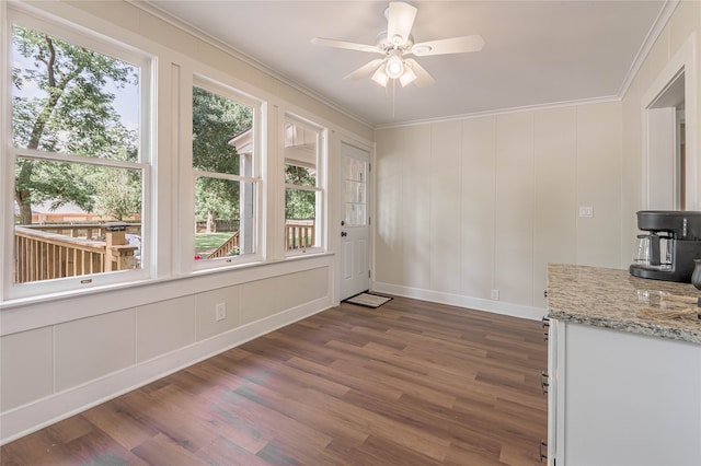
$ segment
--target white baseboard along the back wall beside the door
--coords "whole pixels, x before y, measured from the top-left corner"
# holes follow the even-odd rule
[[[495,314],[510,315],[514,317],[540,321],[548,311],[542,307],[525,306],[506,303],[504,301],[484,300],[481,298],[463,296],[460,294],[444,293],[440,291],[425,290],[422,288],[402,287],[399,284],[372,282],[372,291],[394,294],[398,296],[413,298],[415,300],[432,301],[434,303],[450,304],[458,307],[468,307],[476,311],[486,311]]]

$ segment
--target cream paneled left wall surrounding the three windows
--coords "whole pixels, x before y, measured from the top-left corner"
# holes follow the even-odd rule
[[[272,133],[264,143],[268,145],[264,165],[269,179],[280,178],[275,175],[281,170],[281,154],[276,151],[279,112],[294,112],[330,129],[331,173],[337,172],[334,148],[340,148],[341,140],[365,144],[372,140],[367,126],[130,3],[31,5],[123,38],[158,58],[158,276],[126,288],[2,304],[0,443],[320,312],[337,300],[336,240],[330,241],[329,254],[285,260],[278,229],[284,223],[279,206],[284,191],[276,183],[264,183],[267,263],[183,275],[176,264],[182,246],[177,132],[179,121],[189,115],[179,115],[173,104],[179,81],[171,69],[192,73],[205,67],[266,102],[269,120],[263,126]],[[0,4],[0,13],[5,7]],[[337,195],[330,194],[329,199],[333,205]],[[334,219],[333,211],[327,214]],[[335,228],[330,237],[332,233],[335,238]],[[227,306],[227,318],[219,322],[214,313],[217,303]]]

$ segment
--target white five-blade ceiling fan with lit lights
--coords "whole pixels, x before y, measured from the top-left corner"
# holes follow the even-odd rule
[[[417,11],[409,3],[390,2],[389,8],[384,10],[387,31],[378,34],[375,45],[324,37],[314,37],[311,42],[326,47],[369,51],[383,56],[367,62],[344,79],[357,80],[372,74],[372,81],[381,86],[387,86],[390,80],[399,80],[402,86],[413,82],[418,88],[426,88],[436,81],[415,59],[407,56],[426,57],[479,51],[484,47],[484,39],[480,35],[471,35],[415,44],[411,33]]]

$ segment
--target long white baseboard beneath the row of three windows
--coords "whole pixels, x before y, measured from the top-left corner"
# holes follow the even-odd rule
[[[0,413],[0,445],[238,347],[253,338],[320,313],[331,305],[331,296],[324,296],[2,412]]]

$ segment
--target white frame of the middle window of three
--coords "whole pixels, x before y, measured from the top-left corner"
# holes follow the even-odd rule
[[[189,184],[189,186],[187,187],[187,191],[192,193],[192,196],[189,196],[188,199],[185,199],[185,205],[187,205],[189,207],[188,212],[192,212],[192,222],[189,222],[189,224],[194,225],[195,224],[195,202],[196,202],[196,189],[195,189],[195,180],[197,177],[199,176],[207,176],[207,177],[212,177],[212,178],[218,178],[218,179],[228,179],[228,180],[235,180],[239,182],[241,184],[243,183],[252,183],[253,184],[253,225],[252,225],[252,242],[253,242],[253,253],[251,254],[243,254],[243,255],[237,255],[237,256],[227,256],[227,257],[219,257],[219,258],[214,258],[214,259],[205,259],[205,260],[196,260],[195,259],[195,251],[194,251],[194,245],[195,245],[195,230],[191,229],[189,231],[193,232],[193,236],[192,236],[192,241],[188,241],[188,244],[192,244],[192,254],[189,259],[185,260],[185,264],[187,264],[187,261],[189,261],[189,264],[192,265],[192,271],[197,272],[197,271],[206,271],[206,270],[217,270],[217,269],[221,269],[221,268],[228,268],[228,267],[235,267],[235,266],[241,266],[241,265],[246,265],[246,264],[254,264],[254,263],[260,263],[263,260],[264,258],[264,254],[263,254],[263,185],[264,185],[264,180],[263,180],[263,176],[262,176],[262,158],[263,158],[263,151],[261,149],[261,140],[262,140],[262,120],[264,118],[264,108],[263,108],[263,102],[251,96],[250,94],[244,93],[243,91],[240,91],[231,85],[226,84],[225,82],[221,81],[217,81],[206,74],[202,74],[202,73],[193,73],[192,77],[192,85],[189,85],[188,89],[188,102],[189,102],[189,126],[188,126],[188,130],[187,132],[187,140],[188,140],[188,145],[187,145],[187,151],[189,153],[189,158],[188,161],[186,162],[186,166],[183,167],[183,170],[188,171],[188,176],[187,176],[187,183]],[[199,171],[199,170],[195,170],[195,167],[193,166],[193,128],[192,128],[192,118],[193,118],[193,107],[192,107],[192,103],[193,103],[193,94],[194,94],[194,88],[199,88],[203,89],[205,91],[211,92],[220,97],[225,97],[225,98],[229,98],[231,101],[234,101],[237,103],[246,105],[249,107],[251,107],[253,115],[252,115],[252,135],[251,135],[251,141],[253,144],[253,150],[251,152],[251,170],[252,170],[252,175],[251,176],[244,176],[244,175],[230,175],[230,174],[225,174],[225,173],[218,173],[218,172],[206,172],[206,171]],[[231,135],[232,137],[235,135]],[[240,207],[239,207],[240,208]],[[242,219],[240,219],[241,221]],[[239,224],[239,231],[241,230],[241,223]]]

